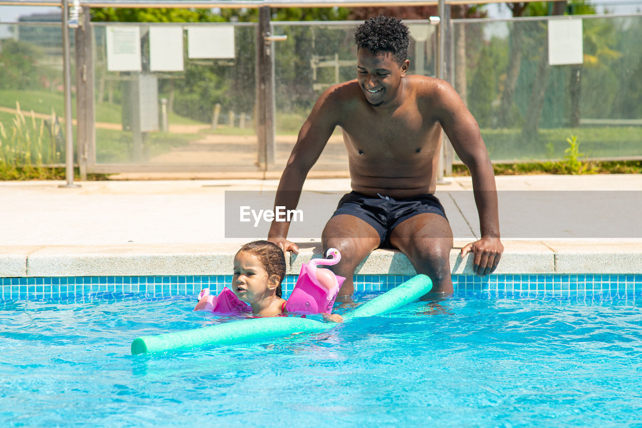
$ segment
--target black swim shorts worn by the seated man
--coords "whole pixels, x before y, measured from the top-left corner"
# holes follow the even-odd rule
[[[379,245],[390,247],[390,233],[404,220],[422,213],[435,213],[446,220],[446,212],[435,195],[418,195],[407,199],[387,196],[370,197],[354,190],[343,195],[335,215],[348,214],[361,218],[379,233]]]

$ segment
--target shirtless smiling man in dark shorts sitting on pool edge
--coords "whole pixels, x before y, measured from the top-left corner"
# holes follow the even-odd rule
[[[354,291],[354,269],[378,247],[402,251],[417,273],[433,280],[432,292],[453,292],[449,254],[453,247],[444,210],[433,195],[441,131],[473,177],[482,238],[465,245],[475,274],[497,267],[503,245],[495,177],[479,126],[451,85],[406,75],[408,27],[378,16],[356,31],[356,80],[327,89],[313,107],[281,176],[275,206],[296,208],[303,183],[335,127],[343,130],[351,186],[322,234],[324,250],[336,248],[341,262],[331,269],[345,276],[340,296]],[[272,222],[268,240],[299,252],[287,240],[287,222]]]

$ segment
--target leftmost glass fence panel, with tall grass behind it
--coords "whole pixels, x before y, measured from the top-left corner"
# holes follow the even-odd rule
[[[64,164],[62,64],[60,22],[0,24],[0,168]]]

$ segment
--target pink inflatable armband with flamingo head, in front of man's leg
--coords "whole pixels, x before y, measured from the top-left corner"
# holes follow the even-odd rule
[[[318,269],[318,265],[336,265],[341,260],[337,249],[327,250],[327,257],[314,258],[301,266],[299,279],[286,303],[288,312],[319,314],[332,312],[334,299],[345,278],[335,275],[330,269]]]

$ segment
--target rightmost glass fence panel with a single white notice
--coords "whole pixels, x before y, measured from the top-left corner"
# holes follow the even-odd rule
[[[454,22],[455,87],[493,161],[642,157],[642,15],[577,19],[580,59],[562,65],[545,17]]]

